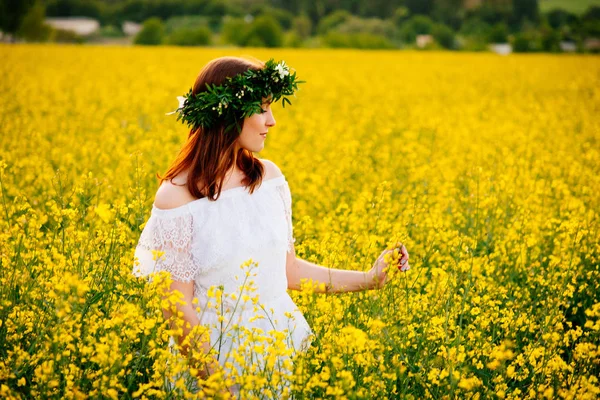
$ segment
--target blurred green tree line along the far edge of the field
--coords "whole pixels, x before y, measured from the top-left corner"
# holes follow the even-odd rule
[[[406,48],[430,35],[434,48],[560,51],[561,41],[581,49],[600,38],[600,7],[542,13],[538,0],[0,0],[0,10],[0,29],[16,36],[43,15],[86,16],[113,36],[124,21],[143,23],[140,44]]]

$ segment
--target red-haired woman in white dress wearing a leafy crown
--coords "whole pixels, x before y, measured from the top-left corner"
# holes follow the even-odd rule
[[[211,327],[210,343],[201,347],[205,353],[210,348],[218,352],[200,372],[203,378],[219,365],[233,365],[241,374],[244,366],[235,357],[228,364],[228,354],[240,343],[227,332],[232,326],[285,332],[294,351],[306,349],[312,331],[286,291],[299,290],[304,279],[323,283],[316,291],[327,293],[380,288],[387,281],[384,255],[391,250],[367,272],[326,268],[296,257],[287,181],[277,165],[253,153],[263,149],[275,126],[271,103],[283,99],[285,107],[290,103],[286,96],[299,83],[285,62],[221,57],[202,69],[173,112],[191,129],[166,175],[158,176],[161,184],[136,247],[134,273],[170,273],[171,291],[181,292],[185,301],[178,311],[189,323],[179,343],[194,326]],[[398,250],[398,267],[406,271],[408,252],[403,245]],[[229,294],[239,290],[240,265],[248,266],[248,260],[254,261],[249,276],[256,290],[253,304],[245,297],[250,303],[245,307],[239,292]],[[220,307],[213,309],[219,295]],[[264,315],[256,317],[257,310]],[[169,310],[164,313],[170,316]]]

